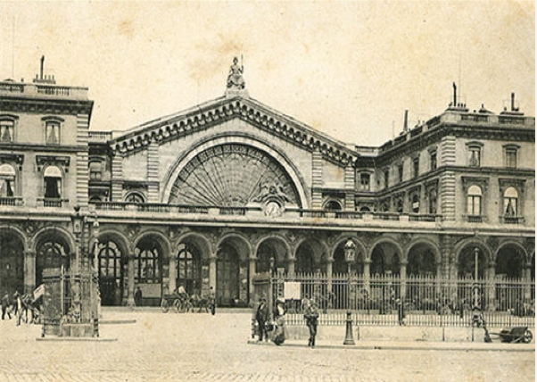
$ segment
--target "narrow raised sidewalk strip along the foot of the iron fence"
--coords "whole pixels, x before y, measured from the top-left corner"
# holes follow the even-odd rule
[[[308,347],[308,340],[287,339],[282,346]],[[276,346],[272,342],[248,340],[249,345]],[[355,345],[343,345],[343,338],[336,341],[317,341],[315,349],[347,350],[433,350],[433,351],[472,351],[472,352],[535,352],[535,344],[507,344],[500,341],[484,342],[434,342],[434,341],[355,341]]]

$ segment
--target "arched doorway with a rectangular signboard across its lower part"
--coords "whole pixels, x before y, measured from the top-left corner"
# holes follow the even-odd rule
[[[143,237],[135,248],[135,284],[142,290],[143,303],[158,305],[161,302],[162,260],[164,250],[160,238]]]

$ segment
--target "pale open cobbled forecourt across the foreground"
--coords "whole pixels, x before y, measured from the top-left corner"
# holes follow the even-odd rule
[[[117,341],[37,341],[40,326],[16,327],[14,320],[0,321],[0,381],[524,382],[535,378],[531,351],[248,345],[248,314],[104,310],[103,320],[136,323],[101,325],[101,338]]]

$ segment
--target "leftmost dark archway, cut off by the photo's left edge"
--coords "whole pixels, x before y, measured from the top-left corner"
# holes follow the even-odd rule
[[[0,291],[24,293],[24,245],[9,232],[0,233]]]

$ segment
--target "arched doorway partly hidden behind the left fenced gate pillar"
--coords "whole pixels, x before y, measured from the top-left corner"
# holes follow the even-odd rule
[[[36,286],[43,283],[43,270],[70,270],[70,246],[59,235],[44,235],[37,241]]]

